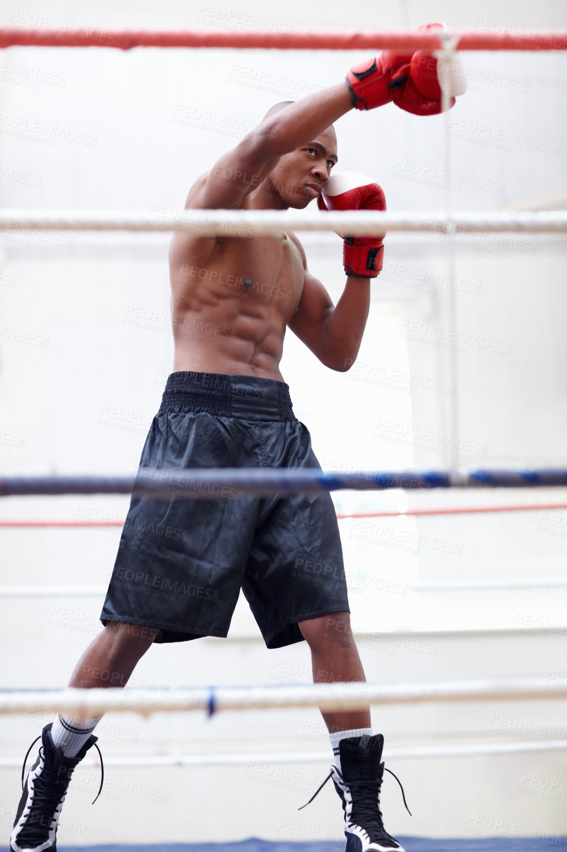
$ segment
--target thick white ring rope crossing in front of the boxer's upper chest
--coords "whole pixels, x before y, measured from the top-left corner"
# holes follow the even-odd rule
[[[386,231],[567,233],[567,210],[520,212],[421,210],[21,210],[0,208],[0,232],[181,231],[254,237],[282,231],[335,231],[377,236]]]

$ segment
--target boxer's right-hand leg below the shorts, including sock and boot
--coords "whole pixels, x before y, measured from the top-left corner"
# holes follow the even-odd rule
[[[365,681],[349,613],[332,613],[300,622],[311,648],[313,682]],[[372,735],[370,711],[325,712],[335,765],[330,777],[345,815],[346,852],[404,852],[384,828],[380,790],[384,738]]]

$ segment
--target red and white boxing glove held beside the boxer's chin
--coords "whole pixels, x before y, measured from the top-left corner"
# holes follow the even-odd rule
[[[386,210],[382,187],[365,175],[335,171],[317,199],[319,210]],[[347,275],[375,278],[384,257],[383,237],[345,237],[342,262]]]

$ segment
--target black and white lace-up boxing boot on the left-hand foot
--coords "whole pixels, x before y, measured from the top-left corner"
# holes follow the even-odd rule
[[[27,754],[39,739],[42,740],[42,745],[39,748],[37,761],[31,767],[24,783]],[[51,723],[49,723],[43,728],[41,738],[38,737],[31,743],[24,758],[23,792],[10,837],[12,852],[21,852],[22,849],[32,850],[32,852],[56,852],[57,824],[73,769],[83,760],[89,748],[94,746],[96,739],[93,736],[89,737],[76,757],[65,757],[63,750],[54,746],[51,739]],[[96,749],[99,751],[98,746]],[[100,765],[102,767],[102,763]],[[102,790],[103,780],[104,772],[101,773],[100,790]],[[100,790],[94,799],[95,802],[100,795]]]

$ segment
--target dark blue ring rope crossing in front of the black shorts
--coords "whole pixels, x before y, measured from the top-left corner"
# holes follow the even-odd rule
[[[135,476],[46,475],[0,477],[0,497],[58,494],[135,494],[154,499],[235,499],[297,493],[405,491],[432,488],[567,486],[567,469],[433,470],[325,473],[317,469],[144,469]]]

